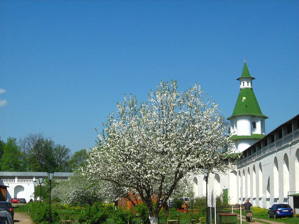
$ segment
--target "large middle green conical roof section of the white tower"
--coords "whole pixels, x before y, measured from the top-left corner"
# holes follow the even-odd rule
[[[228,119],[240,115],[252,115],[268,118],[263,115],[252,89],[240,89],[233,115],[231,115]]]

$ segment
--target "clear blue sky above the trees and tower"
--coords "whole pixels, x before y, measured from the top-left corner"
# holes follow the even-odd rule
[[[299,112],[299,1],[0,1],[0,137],[95,145],[123,95],[195,82],[231,116],[244,58],[269,119]]]

